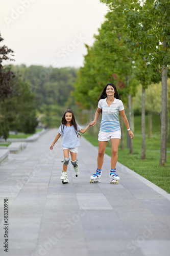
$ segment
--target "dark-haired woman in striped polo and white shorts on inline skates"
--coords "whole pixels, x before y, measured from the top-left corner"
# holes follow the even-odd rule
[[[117,93],[117,89],[113,83],[107,83],[103,92],[99,98],[98,109],[95,112],[92,125],[95,125],[100,113],[102,113],[101,128],[99,132],[99,153],[98,153],[98,168],[96,173],[90,177],[90,183],[100,182],[102,175],[102,165],[104,161],[104,154],[107,142],[111,139],[111,169],[109,178],[111,183],[118,183],[120,179],[116,174],[117,152],[118,145],[121,138],[120,123],[118,120],[118,114],[122,116],[122,119],[127,127],[130,137],[133,139],[133,133],[129,127],[129,122],[125,114],[123,102],[120,100]]]

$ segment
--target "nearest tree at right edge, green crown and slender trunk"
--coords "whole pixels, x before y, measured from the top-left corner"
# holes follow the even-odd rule
[[[168,0],[135,1],[127,5],[124,15],[129,35],[136,41],[146,60],[162,67],[162,115],[160,165],[166,150],[166,80],[170,64],[170,4]]]

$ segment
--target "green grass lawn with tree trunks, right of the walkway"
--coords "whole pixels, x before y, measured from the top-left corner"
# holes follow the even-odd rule
[[[135,118],[136,119],[136,118]],[[138,123],[137,120],[135,120]],[[170,193],[170,143],[167,142],[167,159],[164,166],[159,165],[160,157],[160,124],[155,125],[152,138],[149,139],[146,136],[146,159],[141,160],[141,132],[139,133],[140,125],[135,125],[134,138],[133,138],[133,154],[129,154],[129,149],[126,148],[125,137],[125,149],[121,150],[119,146],[118,150],[118,162],[127,166],[134,172],[148,179],[152,183],[161,187],[167,193]],[[137,128],[138,127],[138,128]],[[141,129],[141,128],[140,128]],[[126,134],[126,133],[125,133]],[[88,133],[85,133],[84,138],[87,139],[94,146],[98,146],[98,138]],[[111,147],[106,147],[106,154],[111,156]]]

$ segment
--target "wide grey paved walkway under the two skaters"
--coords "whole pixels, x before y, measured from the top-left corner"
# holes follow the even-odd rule
[[[168,256],[169,194],[119,163],[120,181],[110,184],[108,156],[101,183],[90,184],[98,151],[83,138],[80,175],[75,177],[69,163],[69,183],[63,185],[61,139],[54,151],[48,149],[56,133],[45,133],[0,165],[0,254]],[[4,199],[9,225],[4,223]]]

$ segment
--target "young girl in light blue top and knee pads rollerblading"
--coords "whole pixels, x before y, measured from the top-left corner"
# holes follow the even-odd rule
[[[62,120],[61,120],[61,125],[58,130],[58,134],[53,141],[50,150],[53,150],[54,144],[58,141],[60,136],[63,136],[63,153],[64,153],[64,160],[63,162],[63,170],[61,172],[61,180],[62,183],[68,183],[67,179],[67,165],[69,163],[69,152],[71,155],[71,164],[74,167],[74,172],[76,174],[76,177],[79,174],[79,169],[78,169],[78,160],[77,160],[77,152],[78,152],[78,146],[80,146],[79,142],[79,132],[80,133],[85,133],[89,126],[92,124],[89,123],[84,129],[81,129],[80,125],[76,123],[75,120],[75,115],[72,110],[66,110],[65,113],[63,114]]]

